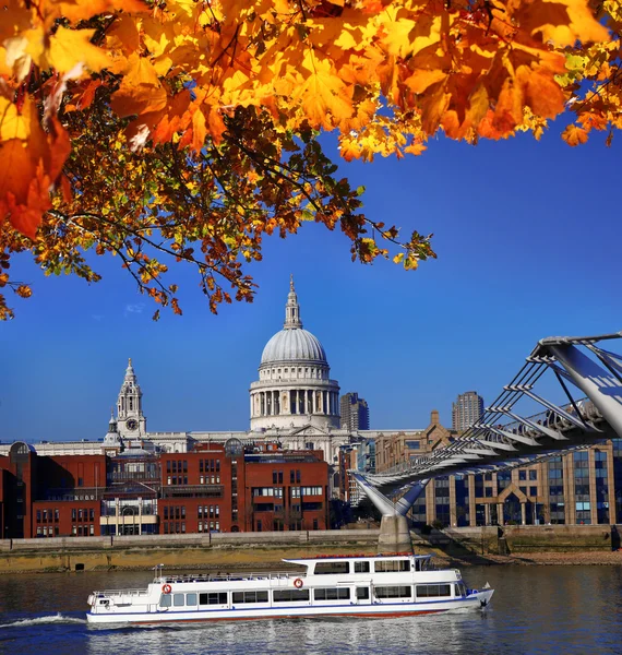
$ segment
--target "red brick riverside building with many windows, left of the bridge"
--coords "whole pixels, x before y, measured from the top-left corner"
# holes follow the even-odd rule
[[[0,538],[326,529],[328,465],[237,439],[62,456],[17,442],[0,456]]]

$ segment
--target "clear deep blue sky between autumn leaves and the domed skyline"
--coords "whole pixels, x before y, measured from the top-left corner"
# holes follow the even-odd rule
[[[304,327],[342,392],[368,401],[372,428],[422,428],[432,408],[450,425],[467,390],[492,402],[539,338],[622,330],[622,135],[610,148],[602,135],[571,148],[560,131],[342,162],[367,187],[370,217],[434,233],[439,259],[417,272],[351,263],[345,237],[309,224],[265,241],[264,261],[248,269],[253,303],[213,317],[181,269],[184,314],[154,323],[153,302],[116,259],[99,259],[104,279],[87,286],[16,258],[14,278],[34,295],[11,298],[16,319],[0,324],[0,440],[103,437],[128,357],[149,430],[248,429],[248,388],[282,327],[290,273]]]

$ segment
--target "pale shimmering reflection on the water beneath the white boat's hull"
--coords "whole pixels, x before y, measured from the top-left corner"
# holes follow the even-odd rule
[[[86,653],[157,655],[253,652],[308,653],[474,653],[486,615],[477,612],[400,619],[291,619],[219,622],[187,627],[89,630]],[[470,635],[470,636],[469,636]],[[491,651],[492,652],[492,651]]]

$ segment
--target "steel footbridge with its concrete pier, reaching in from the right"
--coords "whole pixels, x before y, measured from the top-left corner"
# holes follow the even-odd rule
[[[620,338],[622,332],[542,338],[494,403],[450,444],[381,474],[350,472],[382,513],[379,548],[410,549],[406,514],[436,476],[507,471],[622,439],[622,355],[609,349]],[[560,388],[567,402],[547,400]],[[525,405],[541,412],[526,413]]]

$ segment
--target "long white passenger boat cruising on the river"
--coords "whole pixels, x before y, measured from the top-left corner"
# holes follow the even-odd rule
[[[457,569],[431,555],[284,559],[301,573],[168,575],[156,567],[146,590],[93,592],[89,624],[178,623],[285,617],[396,617],[482,609],[493,590],[467,590]]]

